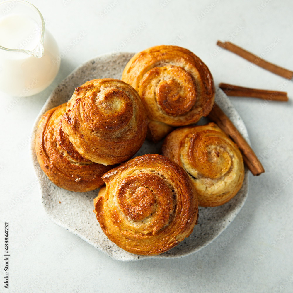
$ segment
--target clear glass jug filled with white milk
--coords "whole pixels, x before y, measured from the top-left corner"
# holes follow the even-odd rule
[[[19,97],[39,93],[59,67],[57,43],[40,11],[26,1],[1,1],[0,92]]]

